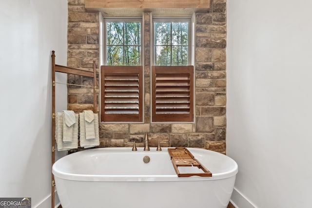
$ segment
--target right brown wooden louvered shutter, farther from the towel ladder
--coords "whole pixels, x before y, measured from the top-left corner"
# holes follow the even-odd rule
[[[152,121],[193,121],[193,66],[153,66]]]

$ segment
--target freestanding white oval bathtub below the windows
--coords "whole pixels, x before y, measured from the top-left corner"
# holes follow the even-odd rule
[[[177,177],[167,148],[162,151],[98,148],[69,154],[52,168],[61,205],[63,208],[226,208],[238,171],[236,162],[215,151],[187,149],[212,172],[212,177]],[[144,156],[150,157],[149,163],[143,162]]]

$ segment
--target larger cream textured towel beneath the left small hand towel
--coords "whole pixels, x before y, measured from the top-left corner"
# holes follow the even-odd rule
[[[75,114],[75,118],[78,121],[79,116]],[[56,113],[55,117],[55,141],[57,143],[58,151],[65,151],[78,148],[78,122],[73,124],[73,141],[63,142],[63,116],[62,113]]]

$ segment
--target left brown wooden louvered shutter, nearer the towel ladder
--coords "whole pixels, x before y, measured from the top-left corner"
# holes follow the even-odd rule
[[[142,66],[101,66],[101,121],[142,121]]]

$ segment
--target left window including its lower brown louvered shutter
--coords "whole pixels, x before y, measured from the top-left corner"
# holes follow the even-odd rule
[[[104,19],[101,122],[142,122],[141,19]]]

